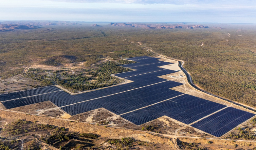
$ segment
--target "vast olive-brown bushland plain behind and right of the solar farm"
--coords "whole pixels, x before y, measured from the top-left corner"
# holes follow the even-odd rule
[[[47,28],[50,27],[0,35],[2,78],[11,67],[77,62],[85,62],[85,67],[89,67],[104,57],[114,60],[152,55],[146,51],[151,49],[184,60],[193,82],[204,90],[256,106],[256,30],[251,26],[170,30],[90,26]],[[237,32],[239,29],[242,30]],[[204,45],[200,46],[202,42]]]

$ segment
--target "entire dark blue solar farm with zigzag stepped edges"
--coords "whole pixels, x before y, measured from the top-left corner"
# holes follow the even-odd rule
[[[173,90],[183,83],[159,76],[178,71],[163,68],[173,63],[155,57],[134,57],[133,64],[121,65],[133,71],[114,74],[132,82],[71,95],[56,86],[8,94],[0,101],[6,109],[50,101],[70,115],[104,108],[125,120],[142,125],[162,116],[221,137],[255,114]]]

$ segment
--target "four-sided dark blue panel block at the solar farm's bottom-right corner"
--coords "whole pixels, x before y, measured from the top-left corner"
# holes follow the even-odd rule
[[[228,107],[192,124],[191,126],[216,137],[221,137],[254,115],[255,114],[253,113]]]

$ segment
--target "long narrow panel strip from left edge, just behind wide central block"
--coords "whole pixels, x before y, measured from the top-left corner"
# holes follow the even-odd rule
[[[149,73],[147,75],[141,75],[140,76],[134,76],[130,77],[129,80],[134,80],[135,82],[132,83],[126,83],[126,84],[121,84],[117,86],[112,86],[109,88],[105,89],[99,89],[95,91],[90,91],[82,94],[77,94],[77,95],[70,95],[64,91],[58,91],[54,92],[54,94],[44,94],[44,95],[39,95],[39,96],[34,96],[34,97],[27,97],[27,98],[19,98],[16,100],[11,100],[8,102],[3,102],[3,105],[10,109],[10,108],[15,108],[15,107],[20,107],[20,106],[25,106],[33,103],[38,103],[38,102],[43,102],[50,100],[53,102],[55,105],[58,107],[65,106],[65,105],[70,105],[73,103],[78,103],[82,102],[85,100],[90,100],[90,99],[95,99],[95,98],[100,98],[103,96],[111,95],[111,94],[116,94],[119,92],[124,92],[127,90],[132,90],[135,88],[155,84],[155,83],[160,83],[167,81],[162,78],[156,78],[157,75],[164,75],[168,73],[176,72],[173,70],[162,70],[159,71],[159,73]],[[172,87],[182,85],[182,83],[177,83],[173,81],[168,81]],[[171,88],[171,87],[169,87]],[[166,87],[168,89],[168,87]]]

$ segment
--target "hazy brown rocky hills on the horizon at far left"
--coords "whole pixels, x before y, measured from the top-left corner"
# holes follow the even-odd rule
[[[20,24],[0,24],[0,32],[16,31],[16,30],[28,30],[40,28],[33,25],[20,25]]]

